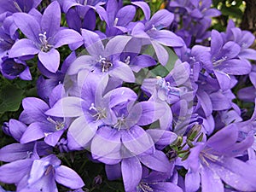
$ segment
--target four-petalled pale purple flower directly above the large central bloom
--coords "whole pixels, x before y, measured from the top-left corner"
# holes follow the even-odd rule
[[[116,36],[109,40],[104,47],[101,38],[95,33],[83,29],[84,45],[90,55],[82,55],[69,67],[67,74],[79,73],[82,69],[93,71],[95,74],[108,73],[109,76],[125,82],[134,82],[135,77],[131,68],[119,56],[131,40],[129,36]]]

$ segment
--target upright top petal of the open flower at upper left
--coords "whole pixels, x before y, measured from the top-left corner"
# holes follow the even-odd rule
[[[41,20],[42,31],[47,37],[53,37],[59,31],[61,24],[61,8],[57,1],[50,3],[44,10]]]

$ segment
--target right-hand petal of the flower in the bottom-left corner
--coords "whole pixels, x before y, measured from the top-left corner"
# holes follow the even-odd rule
[[[79,177],[79,174],[67,166],[55,168],[55,180],[70,189],[79,189],[84,186],[84,182]]]

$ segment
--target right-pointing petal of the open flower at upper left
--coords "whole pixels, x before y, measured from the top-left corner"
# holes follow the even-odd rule
[[[82,42],[83,38],[79,32],[74,31],[73,29],[62,29],[61,31],[55,34],[55,48],[59,48],[64,44],[73,44],[77,42]]]

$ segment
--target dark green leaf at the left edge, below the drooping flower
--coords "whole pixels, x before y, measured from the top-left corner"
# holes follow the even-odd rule
[[[12,84],[3,84],[0,90],[0,113],[14,112],[20,108],[20,103],[25,97],[24,91]]]

